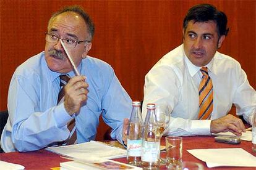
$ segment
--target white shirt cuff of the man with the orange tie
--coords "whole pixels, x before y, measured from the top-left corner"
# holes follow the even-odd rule
[[[211,135],[211,120],[191,120],[191,132],[197,135]]]

